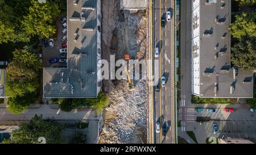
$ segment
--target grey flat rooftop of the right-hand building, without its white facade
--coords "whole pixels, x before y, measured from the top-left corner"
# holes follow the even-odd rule
[[[200,97],[251,98],[253,72],[239,68],[234,78],[230,62],[231,1],[205,2],[200,4]],[[232,94],[230,86],[234,87]]]

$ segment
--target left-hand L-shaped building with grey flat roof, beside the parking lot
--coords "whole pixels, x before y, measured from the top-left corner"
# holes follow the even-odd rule
[[[44,68],[44,98],[96,98],[101,64],[101,1],[67,0],[67,68]]]

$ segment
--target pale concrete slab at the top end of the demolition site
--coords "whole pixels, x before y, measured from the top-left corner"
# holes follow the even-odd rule
[[[121,9],[147,9],[147,0],[121,0]]]

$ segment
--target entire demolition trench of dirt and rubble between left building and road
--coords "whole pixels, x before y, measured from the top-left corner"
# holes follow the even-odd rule
[[[119,0],[102,1],[102,59],[110,62],[130,55],[147,58],[147,12],[120,10]],[[102,81],[110,103],[103,112],[104,125],[98,143],[147,143],[147,78],[127,89],[126,80]]]

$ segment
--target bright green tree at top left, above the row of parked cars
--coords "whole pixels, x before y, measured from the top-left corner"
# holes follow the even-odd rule
[[[55,19],[60,14],[59,6],[52,2],[39,3],[31,0],[29,13],[24,16],[22,24],[29,35],[49,38],[56,33]]]

